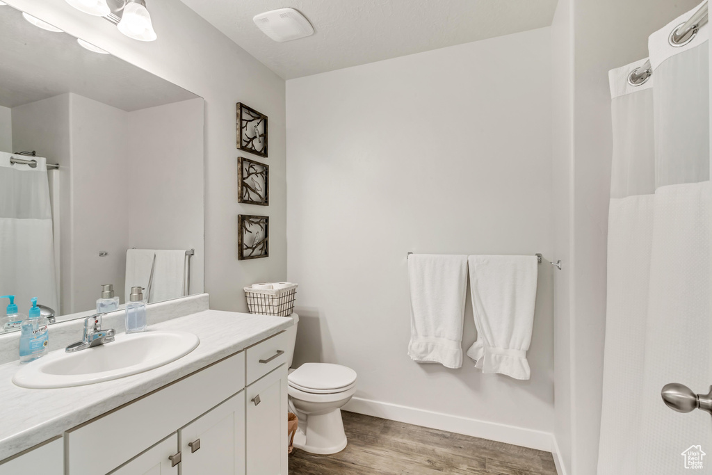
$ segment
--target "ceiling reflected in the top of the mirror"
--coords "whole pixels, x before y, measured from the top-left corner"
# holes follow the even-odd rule
[[[0,6],[0,105],[13,108],[77,93],[126,111],[198,97],[109,54],[87,51],[67,33],[32,26]]]

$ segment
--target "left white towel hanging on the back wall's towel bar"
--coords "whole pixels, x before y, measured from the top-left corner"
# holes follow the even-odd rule
[[[412,254],[408,258],[411,336],[408,355],[417,362],[462,366],[462,325],[467,256]]]

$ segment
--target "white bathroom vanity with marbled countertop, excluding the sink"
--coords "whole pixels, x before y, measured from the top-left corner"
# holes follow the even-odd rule
[[[283,330],[292,324],[216,310],[157,323],[150,330],[200,343],[167,365],[92,385],[25,389],[11,381],[19,362],[0,365],[0,475],[286,475]]]

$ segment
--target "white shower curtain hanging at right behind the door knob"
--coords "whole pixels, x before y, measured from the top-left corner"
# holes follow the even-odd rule
[[[694,10],[693,10],[694,11]],[[669,44],[693,11],[649,38],[638,61],[609,73],[613,162],[608,230],[600,475],[689,473],[683,452],[708,451],[710,416],[674,412],[660,391],[712,385],[708,26]]]

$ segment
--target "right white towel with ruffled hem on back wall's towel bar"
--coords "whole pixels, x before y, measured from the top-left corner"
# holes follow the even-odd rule
[[[482,372],[528,380],[536,256],[470,256],[468,263],[477,341],[467,355]]]

